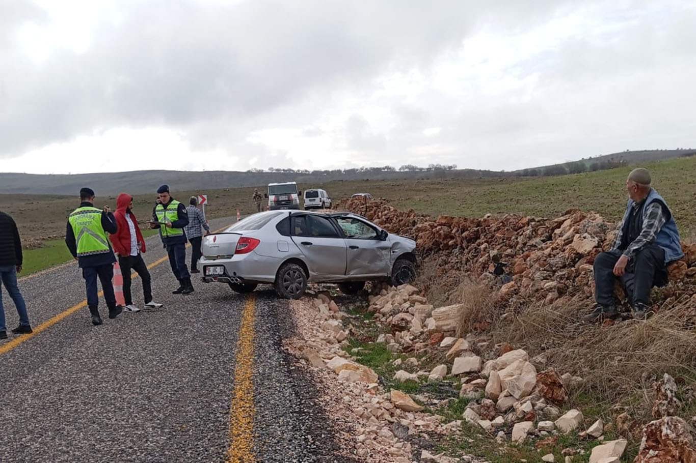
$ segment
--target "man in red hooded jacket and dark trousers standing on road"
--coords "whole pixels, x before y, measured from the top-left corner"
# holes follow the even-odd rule
[[[159,309],[162,304],[152,300],[152,283],[148,266],[143,261],[141,252],[145,252],[145,240],[138,227],[138,220],[133,211],[133,197],[127,193],[121,193],[116,199],[116,218],[118,232],[109,235],[113,251],[118,255],[118,265],[123,277],[123,298],[125,299],[127,312],[139,312],[139,307],[133,304],[131,294],[131,269],[135,270],[143,280],[143,295],[145,296],[145,309]]]

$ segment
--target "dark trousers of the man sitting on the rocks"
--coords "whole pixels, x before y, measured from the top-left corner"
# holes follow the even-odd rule
[[[637,302],[648,304],[652,287],[667,282],[665,251],[658,245],[644,247],[628,261],[626,273],[617,277],[614,266],[621,254],[618,250],[602,252],[594,259],[594,299],[606,307],[614,305],[614,282],[619,278],[631,305],[635,306]]]

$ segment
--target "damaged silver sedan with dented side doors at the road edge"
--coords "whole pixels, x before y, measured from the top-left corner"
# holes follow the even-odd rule
[[[237,293],[273,284],[300,298],[308,283],[337,283],[347,294],[368,281],[395,286],[416,277],[416,242],[353,213],[264,211],[205,236],[201,279]]]

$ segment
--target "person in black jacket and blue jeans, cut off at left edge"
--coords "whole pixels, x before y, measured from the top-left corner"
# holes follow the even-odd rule
[[[17,286],[17,273],[22,272],[22,241],[15,220],[4,212],[0,212],[0,339],[7,339],[5,326],[5,309],[2,304],[2,285],[7,288],[19,314],[19,326],[14,334],[31,333],[29,316],[26,314],[26,304]]]

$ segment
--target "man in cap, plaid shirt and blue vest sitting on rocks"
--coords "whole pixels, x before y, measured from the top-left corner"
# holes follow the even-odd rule
[[[612,250],[594,259],[596,307],[586,321],[616,316],[614,282],[626,288],[633,317],[648,316],[650,290],[667,283],[667,264],[684,257],[677,223],[667,202],[652,188],[650,172],[635,169],[628,175],[628,206]]]

